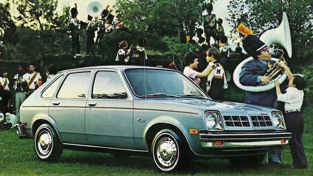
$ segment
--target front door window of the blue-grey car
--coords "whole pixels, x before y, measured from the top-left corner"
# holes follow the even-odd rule
[[[127,94],[118,73],[99,71],[95,77],[91,97],[94,99],[126,99]]]

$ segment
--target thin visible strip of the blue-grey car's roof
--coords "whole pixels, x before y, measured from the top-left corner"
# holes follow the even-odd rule
[[[67,69],[67,70],[59,71],[58,73],[64,73],[64,72],[69,72],[69,71],[79,71],[79,70],[101,69],[101,68],[118,69],[120,71],[123,71],[124,69],[128,69],[128,68],[146,68],[146,69],[172,70],[172,69],[168,69],[168,68],[154,67],[154,66],[102,65],[102,66],[88,66],[88,67],[82,67],[82,68]]]

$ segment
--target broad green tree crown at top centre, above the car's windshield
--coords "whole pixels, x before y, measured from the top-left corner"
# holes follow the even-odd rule
[[[117,0],[115,7],[130,31],[148,39],[158,36],[155,39],[160,40],[181,33],[194,35],[195,26],[202,24],[205,3],[203,0]]]

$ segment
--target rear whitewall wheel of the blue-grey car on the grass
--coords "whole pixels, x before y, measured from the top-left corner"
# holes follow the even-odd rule
[[[48,124],[42,124],[36,130],[34,145],[37,158],[42,161],[55,162],[63,152],[58,136]]]

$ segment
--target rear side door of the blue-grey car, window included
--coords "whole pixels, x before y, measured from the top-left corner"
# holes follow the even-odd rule
[[[49,116],[57,123],[63,143],[88,144],[85,108],[91,75],[91,71],[68,73],[50,102]]]

